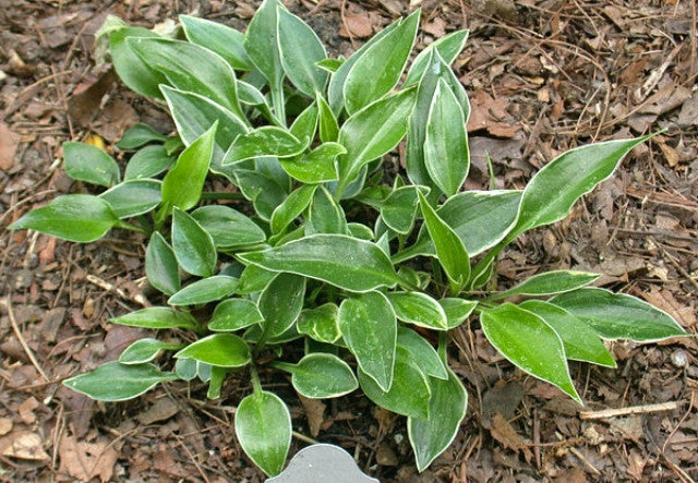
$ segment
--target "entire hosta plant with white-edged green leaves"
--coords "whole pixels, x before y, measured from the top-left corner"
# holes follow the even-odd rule
[[[462,191],[470,106],[449,63],[467,32],[410,63],[419,10],[348,59],[328,57],[278,0],[265,0],[244,34],[179,20],[164,37],[109,19],[98,38],[177,133],[128,130],[117,144],[132,153],[123,170],[97,147],[65,143],[68,174],[107,190],[60,196],[11,227],[76,242],[113,228],[147,238],[145,274],[163,303],[110,322],[177,328],[180,341],[139,340],[68,387],[119,401],[198,378],[219,398],[228,374],[249,376],[236,434],[269,475],[292,431],[261,375],[288,373],[306,398],[360,388],[407,416],[421,471],[466,414],[447,343],[469,317],[513,364],[578,402],[568,360],[613,367],[604,340],[684,334],[636,298],[589,287],[597,274],[554,270],[495,289],[508,243],[563,219],[649,136],[564,153],[524,190]],[[406,169],[388,174],[382,160],[405,138]],[[204,191],[214,178],[229,189]]]

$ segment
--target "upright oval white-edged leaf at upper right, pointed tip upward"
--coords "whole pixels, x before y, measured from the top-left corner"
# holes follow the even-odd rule
[[[466,118],[443,79],[436,85],[426,119],[424,166],[446,196],[460,190],[470,169]]]

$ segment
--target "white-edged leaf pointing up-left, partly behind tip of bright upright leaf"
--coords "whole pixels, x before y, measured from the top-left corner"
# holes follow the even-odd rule
[[[210,170],[228,176],[229,168],[225,169],[220,164],[226,150],[228,150],[236,137],[248,132],[248,128],[241,118],[229,109],[198,94],[186,93],[167,86],[163,86],[163,94],[177,125],[177,132],[179,132],[188,146],[200,138],[218,121]]]

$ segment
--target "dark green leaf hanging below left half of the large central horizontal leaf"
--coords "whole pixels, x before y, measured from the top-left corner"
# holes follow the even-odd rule
[[[264,316],[264,329],[269,337],[288,330],[303,309],[305,278],[294,274],[279,274],[266,286],[257,305]]]

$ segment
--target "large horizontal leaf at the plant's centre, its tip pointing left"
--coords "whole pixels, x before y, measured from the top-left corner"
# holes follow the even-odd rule
[[[381,249],[342,234],[313,234],[238,256],[267,270],[290,271],[356,292],[392,287],[397,281],[395,269]]]

